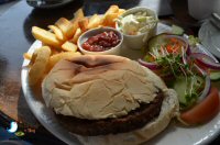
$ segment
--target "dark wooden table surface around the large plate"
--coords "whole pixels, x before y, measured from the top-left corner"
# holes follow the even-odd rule
[[[63,8],[53,10],[37,10],[29,7],[24,0],[18,2],[10,10],[0,15],[0,126],[7,127],[11,121],[19,123],[19,129],[25,131],[21,138],[36,144],[41,143],[64,144],[48,133],[34,118],[30,111],[21,89],[21,66],[23,53],[34,42],[31,27],[37,25],[46,29],[61,16],[72,19],[73,13],[84,8],[86,15],[103,13],[110,4],[120,8],[145,5],[147,0],[87,0],[69,3]],[[174,15],[162,16],[165,23],[176,23],[183,26],[188,34],[197,34],[199,25],[187,13],[187,1],[173,0],[172,9]],[[0,129],[1,131],[1,129]],[[1,141],[0,134],[0,141]],[[217,144],[220,136],[211,144]]]

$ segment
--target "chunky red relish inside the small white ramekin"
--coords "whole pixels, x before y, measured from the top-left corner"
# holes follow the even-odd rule
[[[82,47],[90,52],[103,52],[117,46],[119,43],[119,36],[113,31],[110,31],[89,37],[82,44]]]

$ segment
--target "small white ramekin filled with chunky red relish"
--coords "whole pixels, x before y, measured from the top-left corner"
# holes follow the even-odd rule
[[[122,41],[122,33],[116,29],[98,27],[85,32],[77,44],[84,54],[119,55]]]

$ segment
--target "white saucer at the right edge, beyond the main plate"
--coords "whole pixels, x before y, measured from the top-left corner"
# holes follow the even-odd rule
[[[198,35],[201,44],[211,54],[220,58],[220,30],[211,24],[210,21],[207,21],[201,25]]]

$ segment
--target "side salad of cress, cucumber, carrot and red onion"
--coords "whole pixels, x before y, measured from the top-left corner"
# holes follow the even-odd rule
[[[160,34],[150,40],[147,48],[148,53],[139,60],[140,64],[154,68],[152,70],[177,91],[182,111],[206,98],[210,90],[210,76],[199,67],[195,56],[200,53],[194,55],[187,40],[177,35]],[[208,56],[207,59],[215,63]]]

